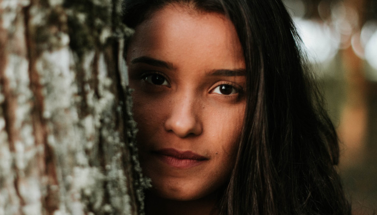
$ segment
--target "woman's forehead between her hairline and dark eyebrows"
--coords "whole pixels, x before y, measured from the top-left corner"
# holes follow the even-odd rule
[[[156,55],[207,56],[243,61],[233,23],[220,13],[196,12],[194,8],[167,5],[136,27],[129,52]],[[139,53],[141,55],[141,53]],[[192,56],[190,56],[192,55]]]

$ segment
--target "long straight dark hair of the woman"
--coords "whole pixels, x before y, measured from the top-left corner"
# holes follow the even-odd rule
[[[169,3],[225,14],[243,47],[247,107],[220,214],[351,214],[334,168],[338,138],[281,0],[125,0],[124,23]]]

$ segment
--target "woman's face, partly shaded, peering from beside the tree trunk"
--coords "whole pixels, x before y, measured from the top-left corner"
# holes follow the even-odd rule
[[[170,4],[135,29],[127,52],[143,172],[152,192],[194,200],[229,180],[245,111],[245,62],[218,13]]]

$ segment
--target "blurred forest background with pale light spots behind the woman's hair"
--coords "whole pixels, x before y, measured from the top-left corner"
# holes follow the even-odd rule
[[[377,0],[283,0],[338,131],[353,215],[377,213]]]

